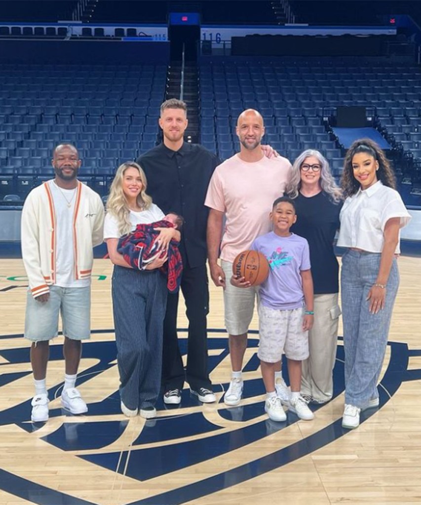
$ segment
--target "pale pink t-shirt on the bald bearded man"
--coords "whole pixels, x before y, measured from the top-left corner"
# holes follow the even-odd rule
[[[272,204],[290,177],[291,164],[280,156],[247,163],[235,155],[215,169],[204,205],[226,216],[221,259],[234,262],[256,237],[271,230]]]

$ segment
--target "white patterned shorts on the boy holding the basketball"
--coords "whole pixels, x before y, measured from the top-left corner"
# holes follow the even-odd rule
[[[304,308],[280,311],[258,305],[259,349],[257,356],[266,363],[277,363],[282,353],[290,360],[308,358],[308,331],[303,331]]]

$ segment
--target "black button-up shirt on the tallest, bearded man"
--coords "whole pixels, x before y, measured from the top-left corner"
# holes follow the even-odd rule
[[[146,193],[153,203],[165,214],[173,211],[184,218],[180,243],[183,263],[190,268],[204,265],[209,212],[204,199],[210,177],[221,161],[203,146],[183,142],[178,151],[161,143],[136,162],[146,174]]]

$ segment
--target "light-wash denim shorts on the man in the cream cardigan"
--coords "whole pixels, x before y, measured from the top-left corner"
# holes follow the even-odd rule
[[[91,287],[49,286],[48,301],[36,301],[28,291],[24,336],[32,342],[50,340],[59,332],[59,315],[63,335],[72,340],[90,337]]]

